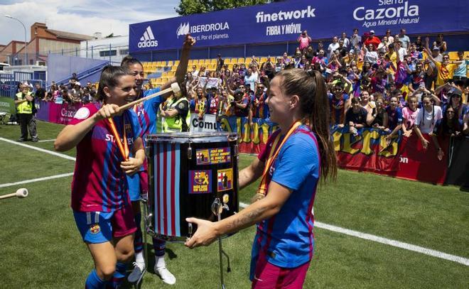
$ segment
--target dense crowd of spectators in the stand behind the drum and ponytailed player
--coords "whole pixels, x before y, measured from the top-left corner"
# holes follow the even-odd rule
[[[438,135],[462,136],[469,133],[468,80],[469,60],[458,51],[451,61],[443,35],[430,42],[417,37],[412,42],[405,29],[377,37],[374,31],[360,36],[343,32],[333,36],[327,48],[315,45],[307,31],[298,36],[293,55],[284,53],[259,63],[254,56],[249,63],[230,69],[218,57],[217,69],[193,66],[186,76],[190,109],[203,114],[269,118],[265,104],[269,80],[277,72],[290,68],[318,70],[328,84],[330,112],[334,126],[358,134],[361,128],[379,129],[392,141],[399,133],[416,133],[426,148],[424,134],[433,136],[441,152]],[[442,152],[438,153],[438,158]]]

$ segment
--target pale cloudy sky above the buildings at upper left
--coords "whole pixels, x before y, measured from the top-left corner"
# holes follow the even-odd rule
[[[179,0],[124,1],[124,0],[0,0],[0,44],[11,40],[24,41],[26,26],[28,41],[31,25],[45,23],[49,29],[92,36],[129,34],[129,24],[177,17],[175,7]]]

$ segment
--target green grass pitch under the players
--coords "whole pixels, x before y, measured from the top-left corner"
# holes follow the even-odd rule
[[[43,140],[55,138],[62,127],[38,121]],[[0,126],[1,138],[18,136],[19,126]],[[52,141],[27,144],[53,151]],[[0,185],[72,173],[75,165],[5,141],[0,152]],[[239,167],[253,158],[242,155]],[[0,195],[29,190],[25,199],[0,200],[0,288],[84,287],[93,263],[70,209],[71,179],[0,187]],[[239,192],[240,200],[248,203],[257,185]],[[469,194],[458,187],[340,170],[337,182],[319,187],[314,212],[318,222],[469,258]],[[314,233],[315,256],[304,288],[469,288],[463,264],[326,229]],[[227,288],[250,288],[253,237],[252,227],[223,241],[232,263],[232,272],[225,271]],[[220,287],[217,244],[194,250],[168,244],[166,250],[176,285],[161,282],[150,258],[143,288]]]

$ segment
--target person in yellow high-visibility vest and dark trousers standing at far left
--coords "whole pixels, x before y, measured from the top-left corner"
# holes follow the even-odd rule
[[[36,131],[36,116],[33,114],[33,93],[29,91],[28,84],[21,84],[21,92],[15,97],[16,111],[21,126],[21,137],[18,141],[28,140],[28,130],[32,141],[38,141],[38,132]]]

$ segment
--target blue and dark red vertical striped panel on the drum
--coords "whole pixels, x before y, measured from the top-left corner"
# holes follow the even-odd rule
[[[156,143],[153,146],[156,170],[154,178],[155,231],[166,236],[180,236],[179,181],[180,144]]]

